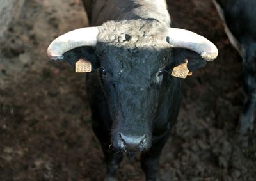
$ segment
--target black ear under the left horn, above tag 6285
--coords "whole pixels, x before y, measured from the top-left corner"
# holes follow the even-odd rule
[[[92,63],[92,71],[100,67],[95,54],[95,47],[77,47],[76,49],[65,52],[63,56],[65,61],[72,65],[72,67],[75,67],[76,62],[81,58]]]

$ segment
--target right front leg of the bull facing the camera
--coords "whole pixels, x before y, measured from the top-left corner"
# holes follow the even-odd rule
[[[156,139],[158,141],[152,144],[152,148],[148,151],[148,153],[141,155],[141,168],[146,175],[147,181],[157,180],[159,157],[161,155],[161,151],[163,150],[163,146],[168,139],[168,136],[168,133],[163,134],[162,136],[157,136]]]

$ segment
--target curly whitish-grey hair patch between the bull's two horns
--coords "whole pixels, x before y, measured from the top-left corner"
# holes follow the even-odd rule
[[[98,42],[115,47],[129,49],[153,47],[166,49],[170,47],[166,41],[168,27],[156,20],[122,20],[109,21],[99,28]]]

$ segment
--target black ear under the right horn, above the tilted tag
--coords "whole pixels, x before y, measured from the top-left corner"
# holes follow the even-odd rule
[[[200,56],[200,54],[190,51],[188,49],[173,49],[171,55],[170,67],[176,67],[181,63],[184,63],[188,59],[188,70],[194,72],[198,68],[205,67],[206,61]]]

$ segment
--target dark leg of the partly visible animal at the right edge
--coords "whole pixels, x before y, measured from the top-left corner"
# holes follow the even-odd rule
[[[256,45],[244,49],[244,104],[239,118],[239,129],[243,134],[253,130],[256,107]]]

